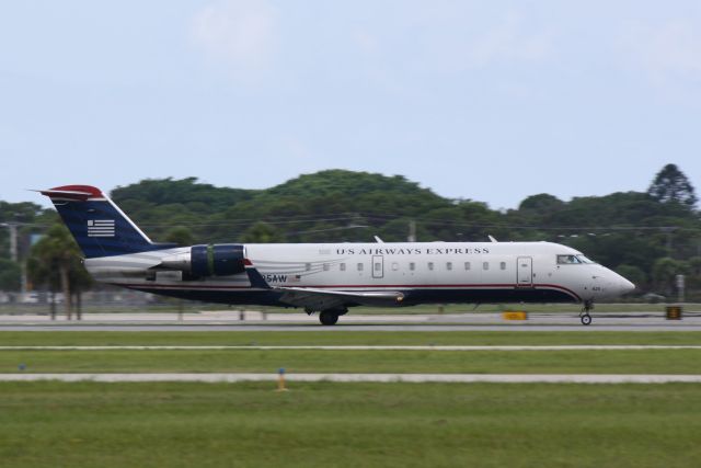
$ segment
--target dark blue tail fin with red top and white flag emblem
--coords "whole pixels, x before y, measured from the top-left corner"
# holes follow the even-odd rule
[[[65,185],[39,192],[51,198],[88,259],[171,247],[151,242],[100,189]]]

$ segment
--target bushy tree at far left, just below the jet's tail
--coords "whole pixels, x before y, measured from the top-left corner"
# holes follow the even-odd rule
[[[32,248],[27,273],[35,285],[48,285],[53,293],[59,288],[62,290],[66,316],[70,320],[73,293],[85,287],[89,275],[83,269],[76,241],[62,224],[51,226]]]

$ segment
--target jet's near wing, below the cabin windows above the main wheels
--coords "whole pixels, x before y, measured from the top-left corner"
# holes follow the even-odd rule
[[[404,299],[404,294],[398,290],[349,292],[310,287],[273,287],[272,289],[283,293],[280,301],[313,310],[333,309],[347,305],[398,305]]]

